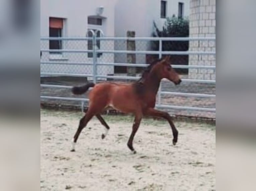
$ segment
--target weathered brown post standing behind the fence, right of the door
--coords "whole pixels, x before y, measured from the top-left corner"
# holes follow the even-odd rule
[[[134,31],[127,31],[127,37],[135,37]],[[135,41],[127,40],[127,50],[135,51]],[[127,63],[136,64],[136,54],[127,54]],[[127,67],[127,76],[136,76],[136,67]]]

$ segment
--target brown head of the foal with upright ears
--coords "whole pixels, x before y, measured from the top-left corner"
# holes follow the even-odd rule
[[[163,79],[166,78],[169,81],[173,82],[175,85],[181,83],[181,79],[176,73],[176,71],[171,67],[170,64],[170,56],[165,57],[160,60],[155,66],[153,66],[152,71],[158,76],[158,78]]]

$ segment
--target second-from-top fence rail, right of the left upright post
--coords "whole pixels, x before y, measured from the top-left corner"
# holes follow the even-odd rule
[[[159,55],[160,53],[160,51],[127,51],[127,50],[96,50],[95,52],[106,53],[106,54],[155,54],[155,55]],[[199,52],[199,51],[162,51],[161,54],[163,55],[216,55],[215,52]]]

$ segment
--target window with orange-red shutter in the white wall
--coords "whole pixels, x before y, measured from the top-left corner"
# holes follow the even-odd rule
[[[63,30],[63,19],[59,18],[49,18],[49,37],[62,37]],[[61,50],[62,41],[61,40],[50,40],[49,41],[50,50]],[[50,54],[62,54],[61,52],[50,52]]]

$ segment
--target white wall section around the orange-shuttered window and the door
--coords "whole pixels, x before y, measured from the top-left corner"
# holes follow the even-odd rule
[[[41,0],[41,37],[49,36],[49,17],[65,19],[63,37],[86,37],[88,26],[87,19],[90,15],[96,15],[97,7],[103,6],[104,12],[101,16],[106,17],[103,20],[102,29],[105,36],[114,36],[114,12],[115,0]],[[87,50],[87,41],[65,41],[64,49],[85,49]],[[48,41],[41,41],[41,49],[49,49]],[[114,49],[114,43],[101,44],[101,49]],[[41,61],[55,61],[48,53],[43,53]],[[56,57],[54,57],[56,58]],[[103,54],[98,58],[99,62],[114,62],[114,55]],[[58,62],[85,62],[92,63],[93,58],[88,58],[87,53],[63,53]],[[99,66],[100,74],[113,74],[113,67]],[[41,72],[47,73],[74,73],[74,74],[92,74],[91,66],[78,65],[41,65]]]

